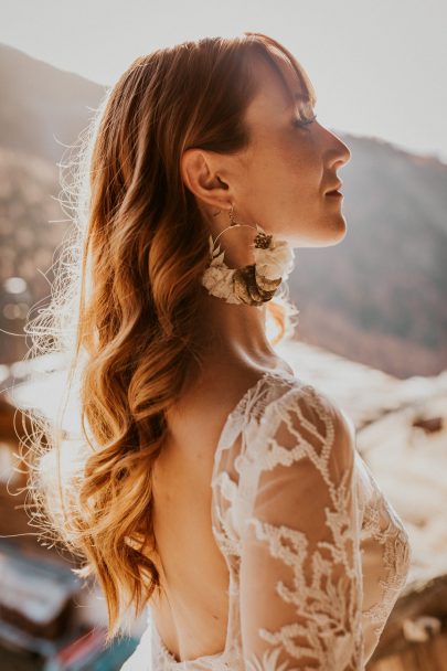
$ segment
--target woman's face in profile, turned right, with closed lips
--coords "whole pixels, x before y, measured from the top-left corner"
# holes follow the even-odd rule
[[[328,246],[345,234],[339,168],[350,159],[348,147],[318,120],[306,102],[291,102],[279,75],[266,62],[254,63],[259,89],[246,110],[251,143],[232,164],[235,212],[294,246]],[[295,72],[283,66],[290,90],[306,90]],[[235,158],[235,157],[233,157]]]

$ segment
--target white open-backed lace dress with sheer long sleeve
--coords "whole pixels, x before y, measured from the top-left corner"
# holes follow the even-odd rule
[[[287,373],[264,373],[221,433],[212,522],[230,571],[224,650],[177,661],[149,606],[121,671],[364,669],[411,547],[333,401]]]

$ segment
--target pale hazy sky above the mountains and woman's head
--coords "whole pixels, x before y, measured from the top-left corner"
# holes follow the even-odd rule
[[[302,63],[319,120],[447,162],[446,0],[0,0],[0,42],[102,84],[159,46],[264,32]]]

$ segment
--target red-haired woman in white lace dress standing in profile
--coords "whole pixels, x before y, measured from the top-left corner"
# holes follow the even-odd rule
[[[266,333],[290,329],[294,247],[345,235],[350,152],[315,102],[264,34],[187,42],[130,65],[85,152],[50,316],[55,349],[77,329],[87,447],[58,488],[42,459],[35,494],[98,578],[109,639],[149,606],[126,671],[364,669],[405,584],[407,534],[351,420]]]

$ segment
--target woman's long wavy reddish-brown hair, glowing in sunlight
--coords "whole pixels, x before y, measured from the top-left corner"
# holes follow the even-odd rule
[[[191,147],[231,153],[247,146],[244,111],[258,86],[253,57],[267,58],[280,75],[278,54],[312,98],[296,58],[262,33],[205,38],[136,58],[95,113],[75,179],[63,190],[73,226],[50,305],[25,328],[28,358],[53,352],[66,362],[66,396],[57,420],[32,413],[29,510],[41,539],[62,541],[79,557],[78,574],[98,581],[108,640],[129,606],[140,615],[161,589],[152,467],[166,412],[201,356],[194,333],[210,232],[182,182],[180,159]],[[286,294],[266,303],[279,337],[298,313]],[[63,428],[73,391],[77,437]]]

